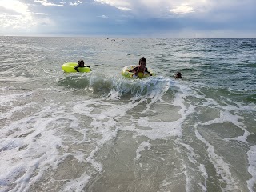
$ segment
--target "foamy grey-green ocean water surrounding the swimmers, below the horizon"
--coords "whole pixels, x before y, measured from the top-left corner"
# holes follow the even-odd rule
[[[0,61],[1,192],[256,191],[256,39],[0,37]]]

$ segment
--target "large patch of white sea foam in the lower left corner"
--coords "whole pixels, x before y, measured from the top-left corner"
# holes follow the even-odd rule
[[[65,151],[68,146],[64,146],[62,138],[55,134],[58,127],[74,121],[77,119],[55,106],[46,107],[33,116],[3,127],[0,130],[0,182],[4,188],[14,183],[14,189],[10,191],[26,191],[42,177],[46,169],[57,167],[65,160],[70,154],[61,154],[58,149]],[[81,160],[78,154],[76,156]]]

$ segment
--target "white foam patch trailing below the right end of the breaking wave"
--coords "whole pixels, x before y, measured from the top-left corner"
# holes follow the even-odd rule
[[[190,94],[192,90],[187,88],[186,86],[178,86],[180,91],[178,91],[174,97],[174,101],[171,101],[171,103],[165,102],[162,97],[166,94],[166,91],[170,89],[170,86],[174,86],[173,82],[166,81],[165,79],[162,79],[160,82],[163,83],[164,89],[161,91],[158,91],[157,93],[150,92],[150,95],[147,95],[146,98],[152,98],[150,103],[148,103],[147,109],[142,111],[142,114],[146,113],[150,109],[150,105],[154,104],[155,102],[163,102],[166,103],[166,105],[173,105],[173,106],[179,106],[181,107],[181,110],[178,110],[178,114],[180,114],[180,118],[176,121],[151,121],[148,117],[138,117],[138,120],[132,119],[131,121],[134,122],[134,125],[146,127],[147,130],[141,130],[137,129],[136,126],[126,126],[124,129],[137,132],[138,135],[144,135],[147,138],[150,138],[152,140],[158,139],[158,138],[169,138],[171,136],[178,136],[182,137],[182,123],[186,120],[186,118],[194,112],[194,106],[187,107],[184,105],[184,98],[186,98],[187,94]],[[158,87],[155,88],[158,90]],[[138,100],[138,96],[134,96],[134,98],[131,98],[133,102]],[[141,103],[146,102],[145,98],[142,98],[141,100],[138,100],[138,102],[135,103]],[[148,129],[150,128],[150,129]]]

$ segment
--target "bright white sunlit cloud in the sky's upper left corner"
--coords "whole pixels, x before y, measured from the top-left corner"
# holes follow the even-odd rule
[[[50,13],[40,9],[38,3],[24,1],[27,0],[0,0],[0,28],[2,29],[0,35],[36,34],[38,31],[54,29],[56,23],[54,19],[50,18]],[[48,5],[54,5],[54,3]]]

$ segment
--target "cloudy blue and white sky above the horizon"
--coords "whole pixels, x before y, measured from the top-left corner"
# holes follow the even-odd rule
[[[0,0],[0,35],[256,38],[256,0]]]

